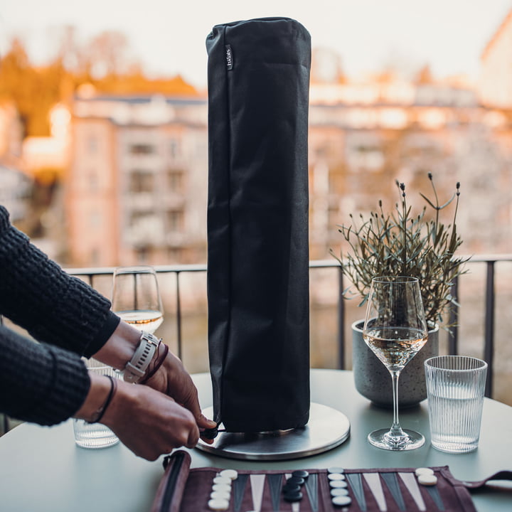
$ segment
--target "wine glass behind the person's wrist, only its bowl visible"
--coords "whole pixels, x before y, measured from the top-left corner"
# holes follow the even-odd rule
[[[141,331],[153,334],[164,321],[153,267],[117,267],[112,281],[112,311]]]

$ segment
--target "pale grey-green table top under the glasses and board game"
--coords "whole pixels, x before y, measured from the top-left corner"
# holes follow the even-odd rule
[[[208,373],[193,375],[202,407],[211,405]],[[235,469],[346,469],[448,465],[457,479],[481,480],[512,469],[512,407],[485,399],[479,448],[468,454],[445,454],[430,445],[426,401],[400,412],[400,423],[425,434],[424,447],[387,452],[366,441],[370,430],[388,427],[391,410],[380,409],[359,395],[353,374],[311,370],[311,400],[334,407],[351,422],[351,436],[329,452],[303,459],[255,462],[225,459],[189,450],[192,466]],[[105,449],[77,447],[71,421],[55,427],[23,424],[0,438],[0,510],[110,512],[149,511],[164,469],[161,460],[147,462],[122,444]],[[512,489],[485,489],[473,494],[478,511],[512,510]]]

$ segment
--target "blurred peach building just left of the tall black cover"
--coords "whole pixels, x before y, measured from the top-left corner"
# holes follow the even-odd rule
[[[72,265],[206,261],[206,119],[203,98],[76,97],[65,176]]]

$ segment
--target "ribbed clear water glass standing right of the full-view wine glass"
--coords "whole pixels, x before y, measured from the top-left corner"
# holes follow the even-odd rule
[[[478,447],[487,363],[468,356],[425,361],[432,446],[441,452]]]

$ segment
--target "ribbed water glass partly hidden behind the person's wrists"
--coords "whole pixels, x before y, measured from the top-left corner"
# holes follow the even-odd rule
[[[92,358],[84,359],[84,362],[89,371],[98,375],[110,375],[113,378],[118,378],[117,370],[112,366],[106,366]],[[87,423],[85,420],[74,418],[73,430],[75,431],[75,443],[82,448],[106,448],[119,442],[117,435],[102,423]]]

